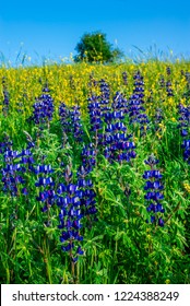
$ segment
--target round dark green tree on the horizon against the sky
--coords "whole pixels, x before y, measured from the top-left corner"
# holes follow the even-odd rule
[[[74,61],[111,62],[123,56],[120,49],[112,48],[112,45],[106,39],[106,34],[100,32],[84,34],[75,50],[78,55],[74,57]]]

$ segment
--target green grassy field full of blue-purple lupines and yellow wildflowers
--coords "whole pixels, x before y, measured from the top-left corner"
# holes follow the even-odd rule
[[[187,72],[0,68],[1,283],[190,283]]]

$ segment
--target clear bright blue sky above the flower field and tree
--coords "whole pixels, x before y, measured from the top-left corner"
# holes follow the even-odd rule
[[[190,58],[190,1],[1,1],[0,51],[15,62],[69,58],[86,32],[100,31],[127,56],[173,50]],[[1,59],[3,58],[1,54]]]

